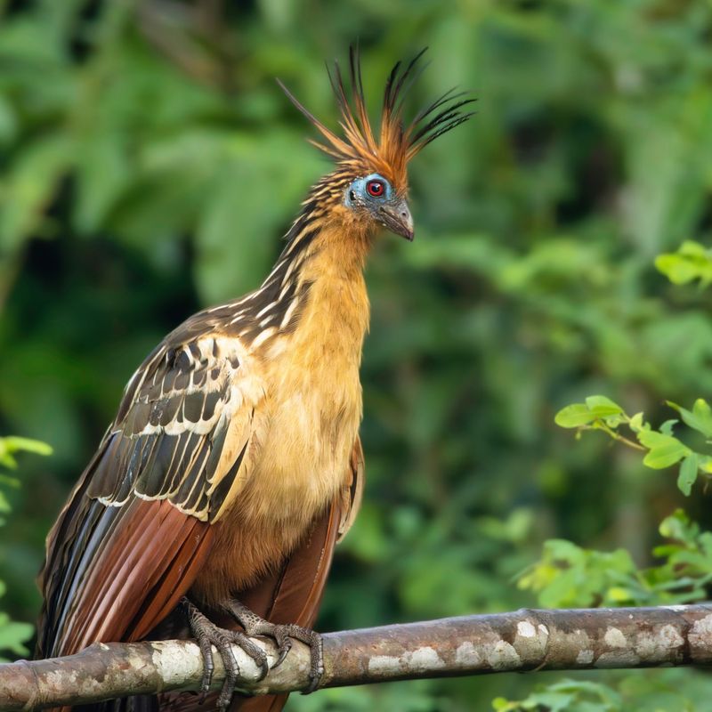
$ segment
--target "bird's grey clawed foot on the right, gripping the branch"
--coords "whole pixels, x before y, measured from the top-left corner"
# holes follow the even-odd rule
[[[292,648],[292,638],[309,645],[309,649],[312,652],[312,665],[309,672],[310,684],[302,693],[307,695],[319,687],[321,676],[324,675],[324,646],[319,633],[294,624],[278,625],[271,623],[269,620],[260,618],[239,601],[229,601],[224,603],[223,606],[238,621],[240,626],[245,628],[247,635],[264,635],[272,638],[277,643],[279,655],[277,662],[272,667],[278,667],[284,662],[287,653]]]

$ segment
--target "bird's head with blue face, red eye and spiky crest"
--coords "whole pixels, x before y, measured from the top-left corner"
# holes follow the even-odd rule
[[[420,74],[424,53],[425,50],[418,53],[408,64],[398,62],[388,76],[377,138],[368,119],[358,48],[352,46],[349,55],[350,92],[338,62],[333,70],[328,70],[341,114],[342,135],[322,124],[279,82],[295,107],[325,139],[325,142],[311,140],[312,144],[336,161],[336,170],[315,187],[316,196],[330,202],[336,212],[344,215],[344,220],[367,232],[380,226],[413,239],[408,203],[409,161],[428,143],[474,113],[464,109],[475,101],[473,98],[450,90],[405,123],[403,98]]]

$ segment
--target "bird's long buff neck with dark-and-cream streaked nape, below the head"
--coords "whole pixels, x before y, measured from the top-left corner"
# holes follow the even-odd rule
[[[275,336],[313,332],[351,341],[360,352],[370,236],[335,199],[342,190],[333,176],[312,189],[262,287],[235,303],[234,327],[253,348]]]

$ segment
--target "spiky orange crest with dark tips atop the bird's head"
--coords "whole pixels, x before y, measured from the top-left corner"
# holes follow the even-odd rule
[[[290,101],[317,127],[327,142],[310,140],[318,149],[334,158],[339,166],[384,175],[395,190],[405,192],[408,187],[407,167],[428,143],[462,124],[473,111],[462,109],[473,99],[465,92],[450,89],[420,110],[408,125],[403,121],[403,99],[410,86],[427,65],[420,63],[427,48],[421,50],[407,65],[397,62],[385,83],[384,104],[378,140],[368,119],[366,99],[361,80],[359,49],[352,45],[349,52],[351,100],[344,85],[344,77],[337,61],[328,76],[341,113],[339,124],[344,138],[335,134],[298,101],[279,79],[279,86]]]

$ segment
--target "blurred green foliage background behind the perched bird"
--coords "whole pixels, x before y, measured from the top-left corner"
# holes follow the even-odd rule
[[[55,451],[23,463],[11,493],[4,607],[35,617],[44,536],[135,366],[199,307],[259,284],[327,169],[273,77],[333,122],[323,61],[356,37],[374,110],[392,63],[429,44],[410,106],[457,84],[480,114],[417,158],[417,239],[384,236],[368,267],[367,497],[320,629],[504,611],[537,592],[670,600],[687,595],[681,565],[686,600],[702,595],[700,485],[685,498],[673,470],[602,436],[574,442],[554,415],[606,393],[661,423],[666,399],[712,390],[712,291],[698,285],[710,33],[704,0],[0,0],[0,433]],[[701,710],[712,691],[689,670],[569,677],[290,705]]]

